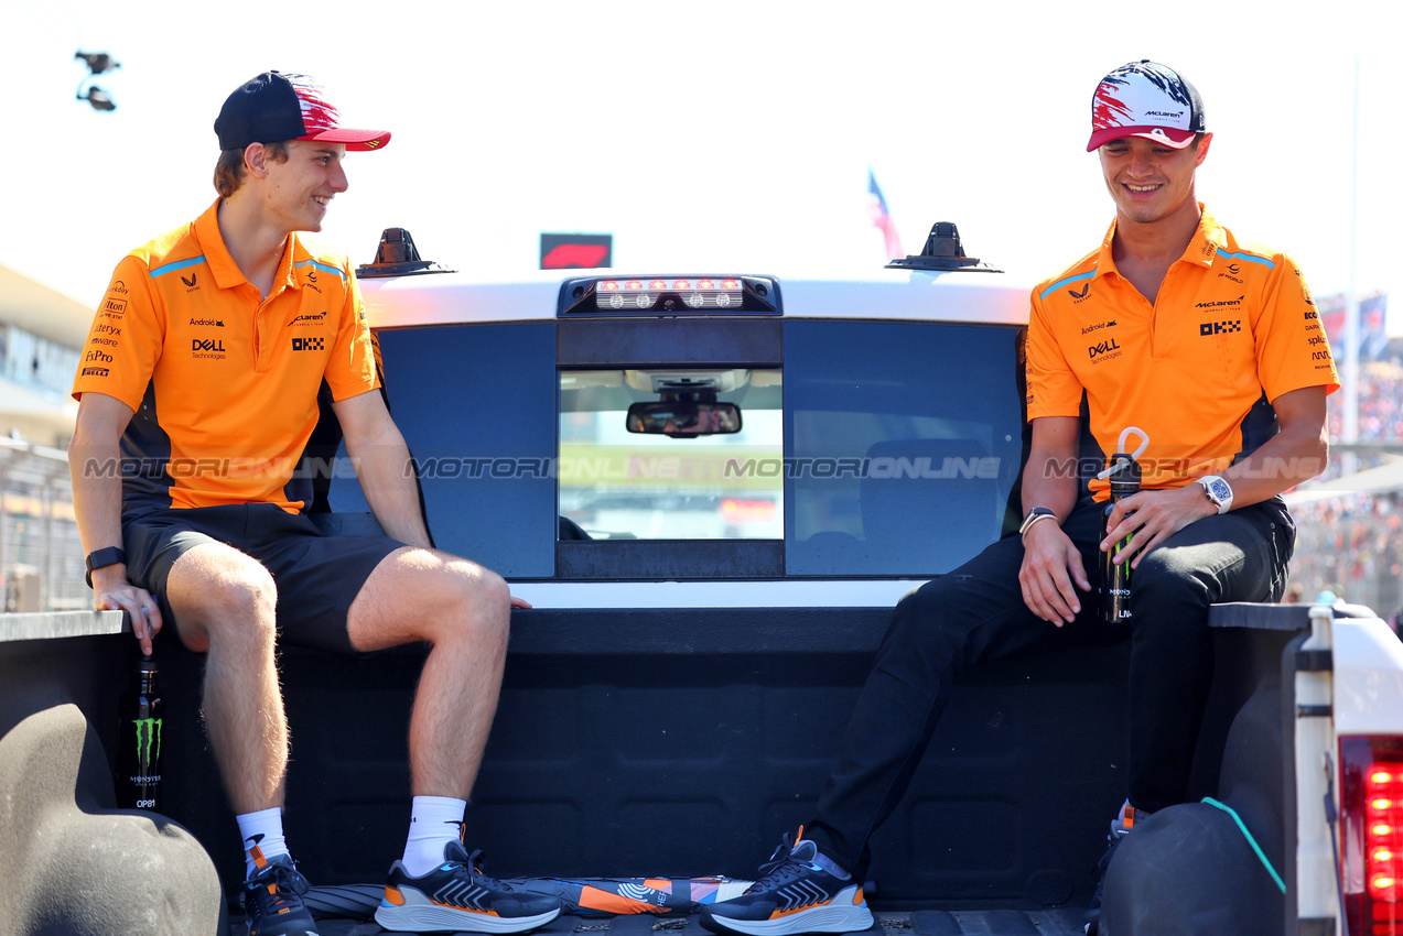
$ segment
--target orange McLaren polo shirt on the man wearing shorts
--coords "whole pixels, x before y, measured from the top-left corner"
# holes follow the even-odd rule
[[[122,437],[122,513],[274,503],[334,399],[379,387],[370,329],[345,256],[288,240],[264,301],[219,234],[219,200],[116,266],[88,332],[73,397],[135,411]]]

